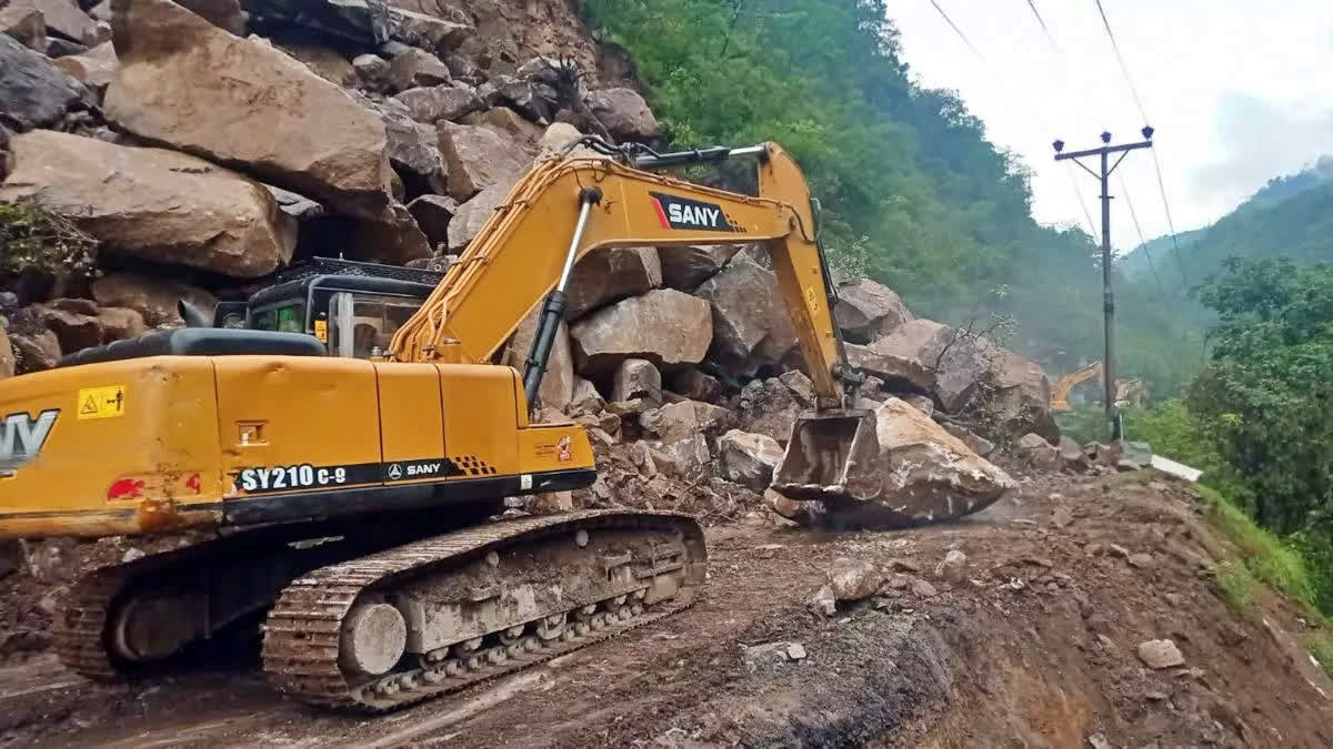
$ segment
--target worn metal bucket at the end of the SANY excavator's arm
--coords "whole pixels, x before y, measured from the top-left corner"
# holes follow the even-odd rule
[[[880,493],[874,412],[806,413],[796,420],[772,488],[793,500],[864,501]]]

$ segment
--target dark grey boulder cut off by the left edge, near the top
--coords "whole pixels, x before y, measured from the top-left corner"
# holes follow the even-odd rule
[[[51,125],[87,93],[45,55],[0,33],[0,119],[19,129]]]

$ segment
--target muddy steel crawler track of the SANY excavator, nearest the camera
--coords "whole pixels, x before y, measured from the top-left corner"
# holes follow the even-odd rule
[[[473,637],[475,630],[445,636],[441,640],[449,642],[445,646],[404,653],[385,673],[347,668],[348,617],[359,601],[363,605],[368,598],[401,601],[404,589],[412,585],[447,584],[459,589],[472,569],[467,564],[480,565],[477,560],[485,560],[499,568],[499,554],[571,536],[588,544],[589,533],[668,534],[676,544],[660,558],[656,546],[652,558],[631,561],[632,554],[617,556],[615,564],[633,566],[635,578],[641,581],[631,584],[639,588],[628,593],[565,601],[564,610],[495,624],[483,636]],[[690,605],[704,580],[705,554],[697,522],[677,513],[591,510],[501,521],[436,536],[324,566],[292,581],[264,626],[264,669],[279,689],[303,702],[363,712],[399,709],[548,661]],[[611,568],[607,569],[609,578]],[[681,581],[673,594],[659,601],[645,596],[657,576],[672,572],[678,572]],[[527,574],[535,573],[528,569]],[[520,582],[516,578],[508,588],[517,589]],[[545,576],[541,585],[551,584]],[[504,592],[481,594],[501,600]],[[552,618],[563,621],[559,636],[541,629]]]

